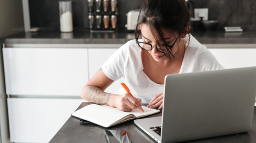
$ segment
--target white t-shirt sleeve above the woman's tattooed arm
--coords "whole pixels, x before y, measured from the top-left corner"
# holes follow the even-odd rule
[[[121,46],[102,65],[102,71],[111,80],[118,80],[124,77],[124,64],[127,57],[125,50],[127,50],[127,46],[127,44]]]

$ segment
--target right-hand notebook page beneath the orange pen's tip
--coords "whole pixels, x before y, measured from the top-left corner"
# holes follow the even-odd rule
[[[133,109],[132,112],[129,112],[129,113],[134,114],[137,118],[141,118],[141,117],[145,117],[147,115],[151,115],[151,114],[160,112],[160,110],[147,108],[146,106],[141,106],[141,107],[143,108],[144,112],[142,112],[140,109]]]

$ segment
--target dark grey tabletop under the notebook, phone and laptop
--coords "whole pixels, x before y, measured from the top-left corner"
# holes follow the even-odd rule
[[[91,103],[83,102],[78,109]],[[162,112],[149,117],[161,116]],[[104,128],[96,125],[81,125],[79,118],[70,117],[61,129],[54,135],[50,143],[107,143],[105,130],[125,129],[127,134],[132,137],[132,143],[156,143],[149,135],[139,129],[133,121]],[[248,132],[199,139],[186,143],[256,143],[256,107],[254,109],[252,128]]]

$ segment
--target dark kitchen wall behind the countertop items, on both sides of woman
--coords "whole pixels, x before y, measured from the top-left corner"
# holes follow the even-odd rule
[[[144,0],[119,0],[118,25],[124,28],[126,13],[140,8]],[[209,8],[209,20],[223,26],[256,29],[256,0],[193,0],[195,8]],[[73,0],[74,27],[88,28],[87,0]],[[31,27],[59,27],[58,0],[29,0]]]

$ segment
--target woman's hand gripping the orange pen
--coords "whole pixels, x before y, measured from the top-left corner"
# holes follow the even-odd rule
[[[141,99],[132,97],[129,93],[115,96],[115,107],[121,111],[130,112],[132,109],[142,109]]]

